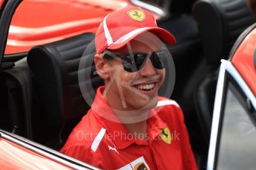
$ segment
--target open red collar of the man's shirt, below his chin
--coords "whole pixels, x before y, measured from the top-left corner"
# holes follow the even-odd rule
[[[100,86],[97,89],[91,109],[99,123],[107,129],[108,136],[111,137],[119,149],[125,149],[133,143],[147,145],[148,143],[145,140],[136,140],[131,134],[128,134],[125,126],[122,125],[111,109],[111,106],[103,97],[104,89],[105,86]],[[164,129],[166,124],[160,118],[159,112],[157,113],[156,109],[151,109],[151,114],[153,115],[147,120],[148,138],[149,140],[154,140],[155,137],[160,135],[160,129]]]

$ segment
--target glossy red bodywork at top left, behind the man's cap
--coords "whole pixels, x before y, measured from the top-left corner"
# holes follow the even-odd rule
[[[125,6],[131,6],[131,2],[24,0],[11,21],[5,54],[27,52],[33,46],[80,33],[95,33],[99,23],[108,13]]]

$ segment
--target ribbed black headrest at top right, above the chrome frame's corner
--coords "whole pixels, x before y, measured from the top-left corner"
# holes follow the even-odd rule
[[[227,59],[234,41],[255,22],[246,0],[199,0],[193,16],[197,20],[203,50],[209,64]]]

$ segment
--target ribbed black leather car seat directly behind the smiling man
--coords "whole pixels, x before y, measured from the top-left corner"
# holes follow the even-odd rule
[[[91,74],[95,55],[93,40],[93,33],[84,33],[33,47],[28,52],[27,62],[33,72],[35,84],[32,126],[36,142],[60,149],[70,131],[90,109],[79,85],[94,82],[99,86],[102,82],[100,79],[91,81],[90,78],[82,79],[82,82],[78,75],[84,72],[89,77],[96,77]],[[79,69],[81,58],[90,61],[90,67]],[[93,96],[94,89],[88,93]]]

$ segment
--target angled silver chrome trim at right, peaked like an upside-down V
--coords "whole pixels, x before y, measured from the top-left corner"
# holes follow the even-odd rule
[[[221,103],[223,100],[223,87],[224,87],[224,79],[225,79],[225,72],[229,72],[234,78],[234,81],[240,86],[243,90],[244,94],[250,101],[252,101],[252,106],[256,109],[256,98],[253,94],[252,90],[249,89],[249,86],[243,80],[237,69],[232,65],[230,61],[221,60],[220,65],[220,73],[219,78],[217,81],[217,89],[214,101],[214,112],[213,112],[213,119],[211,124],[211,139],[210,139],[210,147],[209,147],[209,154],[208,154],[208,161],[207,161],[207,170],[214,169],[214,160],[215,160],[215,152],[216,152],[216,143],[217,143],[217,130],[220,123],[220,109]]]

